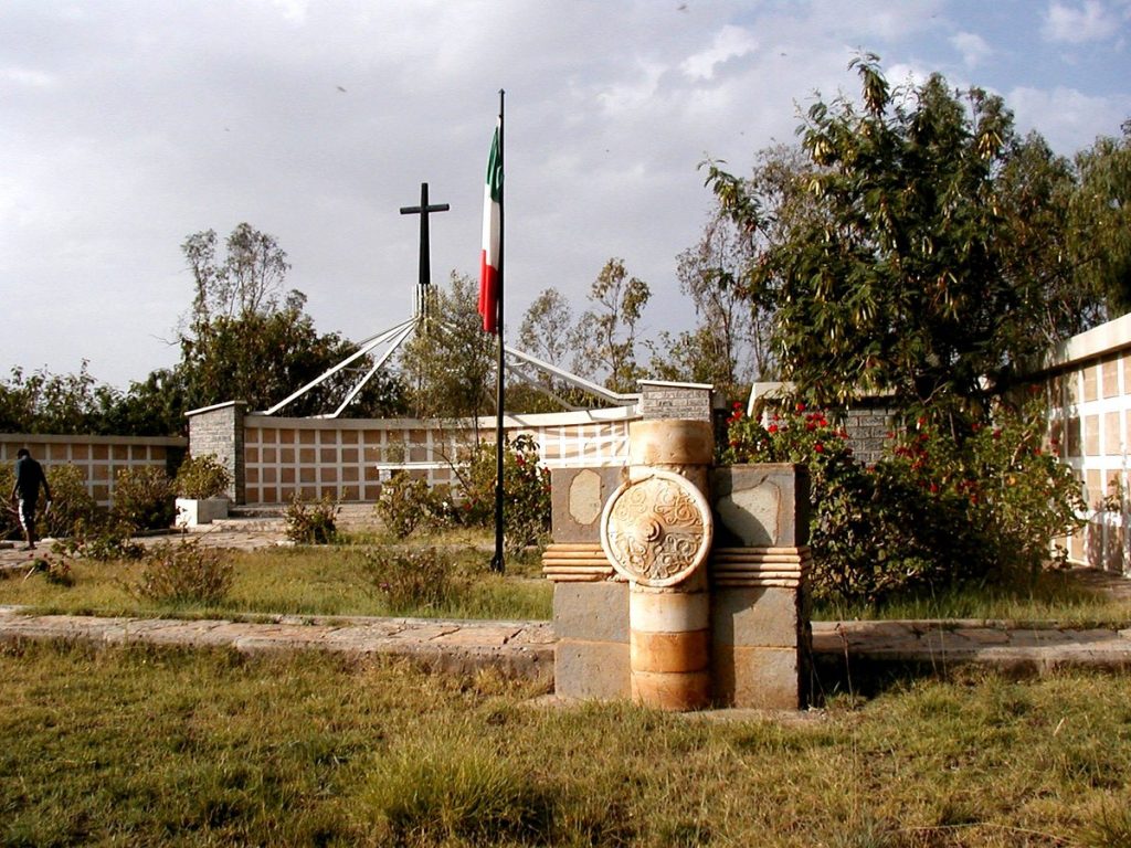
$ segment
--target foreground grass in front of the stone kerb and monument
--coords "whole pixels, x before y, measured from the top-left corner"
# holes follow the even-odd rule
[[[793,720],[551,708],[317,654],[0,648],[5,846],[1119,846],[1131,682],[905,682]]]

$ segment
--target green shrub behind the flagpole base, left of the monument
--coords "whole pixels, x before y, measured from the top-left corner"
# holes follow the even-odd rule
[[[515,554],[539,544],[550,530],[550,470],[538,457],[538,443],[528,433],[503,443],[503,534]],[[490,527],[494,521],[497,453],[481,442],[463,474],[464,511],[468,523]]]

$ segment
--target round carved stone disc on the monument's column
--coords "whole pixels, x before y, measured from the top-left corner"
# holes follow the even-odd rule
[[[707,499],[685,477],[664,470],[622,483],[601,516],[601,546],[613,568],[656,588],[699,568],[713,531]]]

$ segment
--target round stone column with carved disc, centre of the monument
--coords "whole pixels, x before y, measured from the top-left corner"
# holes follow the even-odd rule
[[[711,702],[706,562],[713,518],[709,422],[648,419],[629,426],[628,479],[602,514],[602,547],[629,581],[632,698],[666,710]]]

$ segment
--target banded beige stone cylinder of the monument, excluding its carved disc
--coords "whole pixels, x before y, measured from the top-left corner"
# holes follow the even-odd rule
[[[708,422],[638,421],[629,426],[630,479],[662,468],[684,477],[706,495],[714,452]],[[672,711],[710,704],[710,597],[705,564],[675,586],[632,583],[629,631],[636,701]]]

